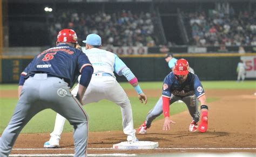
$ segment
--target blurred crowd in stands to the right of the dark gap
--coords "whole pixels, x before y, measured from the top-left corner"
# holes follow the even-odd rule
[[[184,14],[184,19],[189,20],[191,45],[256,46],[256,11],[210,10]]]

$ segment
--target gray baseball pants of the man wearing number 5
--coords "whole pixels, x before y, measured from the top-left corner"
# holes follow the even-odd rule
[[[69,120],[74,127],[75,156],[87,156],[88,118],[82,105],[71,95],[64,80],[48,77],[47,74],[35,74],[25,81],[14,114],[2,134],[1,157],[10,154],[23,127],[44,109],[52,109]]]

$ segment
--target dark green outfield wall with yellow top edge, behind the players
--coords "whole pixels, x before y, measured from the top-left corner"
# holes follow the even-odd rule
[[[237,64],[240,59],[246,62],[248,79],[256,79],[255,53],[228,54],[175,54],[177,59],[185,58],[202,81],[236,80]],[[17,83],[19,75],[32,60],[33,56],[1,56],[0,82]],[[164,60],[164,54],[123,55],[120,58],[137,76],[139,81],[163,81],[170,73]],[[117,76],[118,81],[126,81],[125,77]]]

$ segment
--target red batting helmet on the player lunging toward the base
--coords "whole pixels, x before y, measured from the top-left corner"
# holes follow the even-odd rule
[[[187,75],[188,74],[188,68],[189,68],[189,65],[188,65],[187,60],[179,59],[175,63],[173,73],[175,75]]]

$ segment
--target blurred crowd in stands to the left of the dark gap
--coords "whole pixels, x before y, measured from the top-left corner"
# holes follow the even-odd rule
[[[63,11],[57,13],[50,25],[52,44],[62,28],[77,32],[79,44],[90,33],[99,34],[104,46],[154,46],[156,16],[149,12],[120,11],[116,13],[91,13]]]

